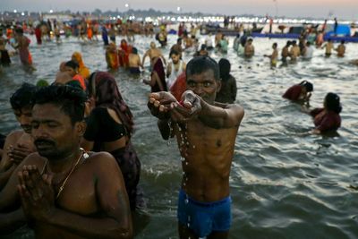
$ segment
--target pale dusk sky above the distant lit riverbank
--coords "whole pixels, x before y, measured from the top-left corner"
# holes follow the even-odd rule
[[[286,17],[314,17],[358,21],[358,0],[0,0],[2,11],[48,12],[71,10],[92,12],[118,9],[146,10],[182,13],[220,13],[227,15],[254,14]]]

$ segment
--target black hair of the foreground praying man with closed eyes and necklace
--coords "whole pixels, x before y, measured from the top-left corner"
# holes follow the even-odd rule
[[[83,90],[70,85],[50,85],[38,89],[35,104],[54,104],[70,116],[72,125],[81,122],[84,115],[86,94]]]

